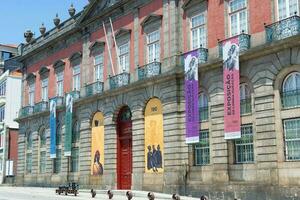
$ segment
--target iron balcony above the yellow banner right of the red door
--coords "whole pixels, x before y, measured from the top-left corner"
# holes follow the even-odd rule
[[[157,61],[138,67],[139,80],[157,76],[160,73],[161,73],[161,63]]]

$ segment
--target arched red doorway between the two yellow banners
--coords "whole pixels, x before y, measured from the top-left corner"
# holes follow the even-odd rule
[[[117,181],[118,189],[131,189],[132,174],[132,121],[128,106],[117,118]]]

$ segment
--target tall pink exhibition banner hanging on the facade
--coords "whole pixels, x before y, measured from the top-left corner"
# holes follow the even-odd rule
[[[225,140],[238,139],[241,137],[238,37],[224,41],[222,46]]]

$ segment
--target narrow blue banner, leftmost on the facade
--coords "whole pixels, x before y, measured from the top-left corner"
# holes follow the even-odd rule
[[[50,158],[56,158],[56,99],[50,100]]]

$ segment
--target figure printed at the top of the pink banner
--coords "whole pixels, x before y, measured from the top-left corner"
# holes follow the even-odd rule
[[[227,55],[227,58],[225,58],[224,61],[224,68],[233,71],[238,70],[238,47],[236,44],[231,44],[230,48],[226,48],[225,46],[225,55]],[[226,54],[227,52],[227,54]]]

